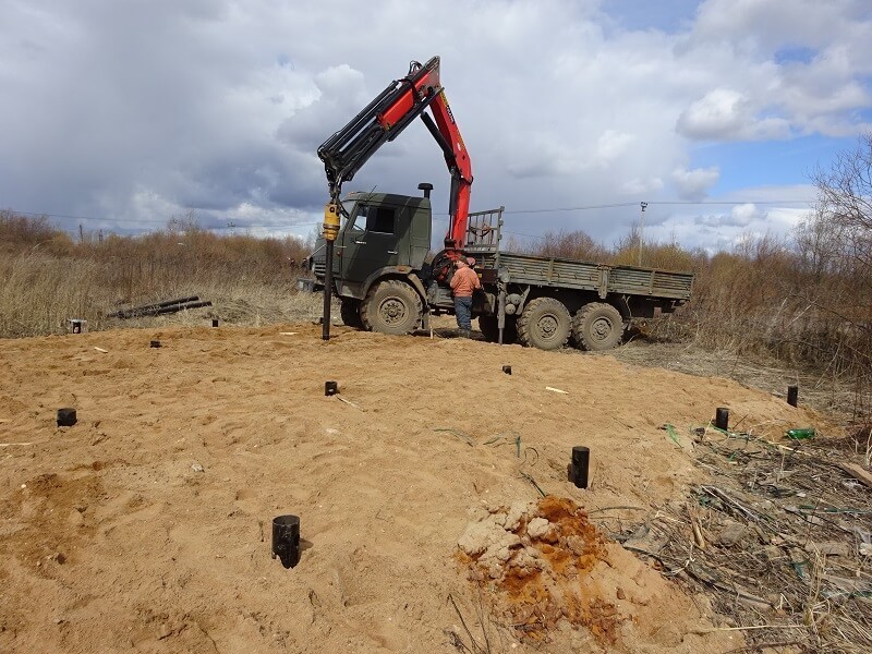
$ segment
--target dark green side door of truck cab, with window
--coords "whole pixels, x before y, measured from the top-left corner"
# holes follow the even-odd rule
[[[362,283],[375,270],[398,265],[399,215],[390,205],[358,204],[342,235],[340,275],[346,283]]]

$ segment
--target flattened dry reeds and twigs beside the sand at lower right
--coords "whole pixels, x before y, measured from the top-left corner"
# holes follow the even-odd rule
[[[710,591],[729,628],[748,630],[742,652],[772,646],[768,631],[788,628],[802,630],[791,645],[801,651],[872,651],[863,561],[872,526],[860,519],[872,512],[872,474],[846,462],[859,455],[820,437],[786,446],[711,425],[688,433],[711,483],[609,535],[665,576]]]

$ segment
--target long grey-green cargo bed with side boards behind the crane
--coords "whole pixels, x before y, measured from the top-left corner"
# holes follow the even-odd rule
[[[577,259],[543,257],[500,252],[476,253],[485,268],[497,266],[508,271],[509,282],[553,286],[609,293],[689,300],[693,275],[635,266],[608,266]]]

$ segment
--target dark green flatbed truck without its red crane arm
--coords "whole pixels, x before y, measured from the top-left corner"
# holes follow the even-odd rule
[[[431,184],[420,196],[350,193],[334,250],[334,291],[346,325],[385,334],[428,327],[431,315],[452,314],[450,266],[432,256]],[[462,252],[474,259],[482,292],[473,316],[485,339],[554,350],[618,346],[633,318],[669,313],[690,299],[693,276],[635,266],[501,251],[504,208],[469,214]],[[306,265],[323,289],[323,239]],[[440,261],[441,259],[441,261]]]

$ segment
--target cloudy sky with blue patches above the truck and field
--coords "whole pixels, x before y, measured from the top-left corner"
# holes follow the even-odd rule
[[[0,0],[0,208],[133,233],[191,210],[307,235],[315,152],[441,57],[472,209],[506,229],[728,249],[782,234],[872,131],[869,0]],[[448,174],[420,121],[347,191]],[[520,238],[520,237],[519,237]]]

